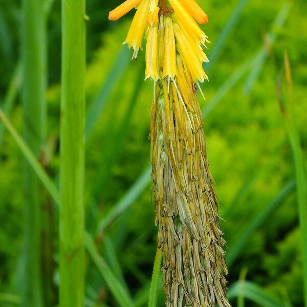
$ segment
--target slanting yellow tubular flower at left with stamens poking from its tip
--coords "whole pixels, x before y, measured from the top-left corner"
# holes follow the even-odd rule
[[[123,45],[126,43],[128,45],[128,48],[132,47],[134,49],[133,59],[137,58],[140,48],[141,50],[143,50],[142,39],[144,37],[148,11],[149,0],[142,0],[131,23],[126,40],[123,42]]]

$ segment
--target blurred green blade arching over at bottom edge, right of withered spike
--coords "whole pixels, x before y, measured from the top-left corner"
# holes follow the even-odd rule
[[[239,295],[243,295],[245,298],[263,307],[285,306],[283,302],[280,302],[272,295],[267,294],[257,286],[257,284],[247,280],[236,281],[229,287],[227,292],[229,300],[238,297]]]

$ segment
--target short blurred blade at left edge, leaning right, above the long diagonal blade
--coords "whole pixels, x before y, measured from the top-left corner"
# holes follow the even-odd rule
[[[15,68],[15,71],[14,71],[14,74],[13,74],[13,77],[11,79],[8,91],[7,91],[6,96],[5,96],[3,103],[2,103],[3,112],[7,116],[9,116],[9,114],[11,113],[11,110],[12,110],[14,101],[16,99],[17,92],[19,90],[20,84],[21,84],[21,63],[20,63],[20,61],[18,61],[16,68]],[[1,147],[1,144],[3,142],[4,130],[5,130],[4,125],[2,123],[0,123],[0,147]]]

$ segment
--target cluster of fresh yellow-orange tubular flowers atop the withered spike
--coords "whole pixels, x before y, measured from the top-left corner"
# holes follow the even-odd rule
[[[134,49],[135,59],[146,35],[145,79],[174,78],[174,63],[179,53],[192,80],[203,82],[208,78],[202,64],[208,58],[202,46],[206,48],[209,41],[195,20],[207,23],[208,17],[194,0],[169,0],[169,3],[171,7],[159,0],[127,0],[109,13],[109,19],[116,20],[139,5],[124,43]]]

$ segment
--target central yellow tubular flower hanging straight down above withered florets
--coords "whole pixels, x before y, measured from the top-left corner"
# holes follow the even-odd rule
[[[166,17],[164,19],[164,57],[163,62],[163,78],[174,78],[176,74],[176,44],[172,19]]]

